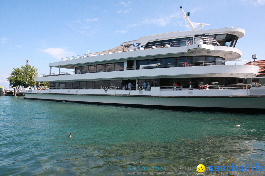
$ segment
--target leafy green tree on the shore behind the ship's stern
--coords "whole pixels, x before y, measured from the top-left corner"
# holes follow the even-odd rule
[[[12,87],[34,86],[34,77],[38,75],[37,68],[31,65],[22,65],[21,68],[13,68],[10,77],[7,78]]]

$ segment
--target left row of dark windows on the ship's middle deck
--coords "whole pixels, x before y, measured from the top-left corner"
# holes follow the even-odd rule
[[[95,73],[95,72],[113,72],[113,71],[121,71],[121,70],[124,70],[124,62],[75,67],[75,74]]]

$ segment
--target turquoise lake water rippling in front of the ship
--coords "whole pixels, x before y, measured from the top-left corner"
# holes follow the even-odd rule
[[[264,114],[12,96],[0,102],[0,175],[127,175],[127,165],[137,166],[127,162],[137,161],[145,167],[191,167],[191,175],[200,163],[205,175],[211,175],[210,165],[265,165]]]

